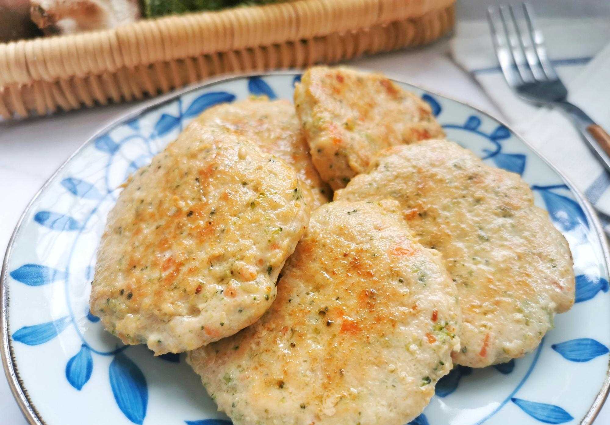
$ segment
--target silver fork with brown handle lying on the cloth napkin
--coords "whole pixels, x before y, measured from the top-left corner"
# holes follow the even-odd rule
[[[568,91],[548,60],[542,32],[534,24],[529,5],[522,3],[521,8],[503,5],[500,9],[491,6],[487,9],[487,21],[508,85],[528,102],[564,111],[610,172],[610,136],[583,110],[566,100]]]

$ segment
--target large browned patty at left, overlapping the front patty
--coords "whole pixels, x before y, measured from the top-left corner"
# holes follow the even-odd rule
[[[232,335],[273,302],[307,222],[292,167],[193,122],[129,178],[110,211],[91,312],[155,354]]]

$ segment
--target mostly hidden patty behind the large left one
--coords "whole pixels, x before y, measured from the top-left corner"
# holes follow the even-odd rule
[[[288,100],[251,97],[221,104],[205,111],[198,122],[239,134],[266,153],[278,156],[295,168],[303,198],[312,211],[328,202],[331,189],[324,183],[309,155],[295,108]]]

